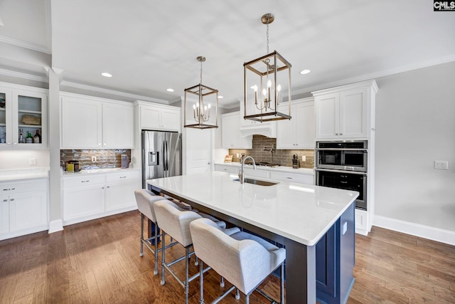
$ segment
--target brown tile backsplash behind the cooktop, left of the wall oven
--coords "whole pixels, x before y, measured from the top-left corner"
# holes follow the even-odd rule
[[[267,151],[269,147],[274,147],[272,152]],[[266,147],[267,150],[264,150]],[[269,138],[262,135],[253,135],[252,149],[230,149],[229,154],[232,155],[232,162],[240,162],[237,154],[245,153],[255,159],[255,162],[270,162],[279,164],[280,166],[292,167],[292,155],[299,155],[299,163],[301,168],[314,167],[314,150],[276,150],[277,139]],[[302,162],[301,157],[305,155],[306,161]]]

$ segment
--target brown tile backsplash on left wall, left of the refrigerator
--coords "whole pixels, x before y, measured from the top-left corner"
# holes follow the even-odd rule
[[[128,162],[131,162],[131,150],[112,149],[112,150],[60,150],[60,166],[66,168],[68,160],[78,160],[80,169],[90,169],[92,166],[100,168],[119,168],[122,167],[122,154],[127,154]],[[92,162],[92,157],[97,158]]]

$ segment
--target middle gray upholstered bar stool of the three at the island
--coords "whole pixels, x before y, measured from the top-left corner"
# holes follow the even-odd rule
[[[158,221],[158,225],[162,231],[162,236],[163,240],[161,242],[161,246],[163,246],[161,250],[161,285],[164,285],[165,280],[164,280],[164,270],[166,269],[171,273],[171,275],[176,278],[178,283],[182,285],[182,287],[185,290],[185,303],[188,303],[188,292],[189,292],[189,283],[193,281],[195,278],[198,278],[200,275],[199,273],[196,273],[195,275],[188,277],[188,264],[189,264],[189,258],[194,254],[194,251],[190,252],[190,248],[193,245],[193,241],[191,239],[191,234],[190,234],[190,223],[191,221],[194,221],[196,219],[202,219],[203,217],[210,218],[210,221],[212,219],[214,221],[217,221],[215,218],[212,216],[209,216],[208,214],[203,214],[203,213],[196,213],[193,211],[180,211],[178,208],[176,208],[176,204],[173,204],[171,201],[156,201],[154,204],[154,210],[156,214],[156,220]],[[226,231],[226,233],[229,233],[229,231],[235,232],[238,230],[235,229],[225,229],[226,224],[224,221],[217,221],[214,223],[215,226],[218,227],[218,229],[223,229],[223,231]],[[181,246],[185,247],[185,256],[182,256],[181,258],[177,258],[175,261],[172,261],[170,263],[166,263],[166,257],[165,257],[165,251],[164,251],[164,237],[168,234],[171,236],[171,238],[175,239],[178,241],[178,243],[181,244]],[[174,273],[171,269],[171,266],[179,261],[182,260],[186,261],[185,264],[185,280],[182,281],[176,273]],[[210,268],[205,268],[201,270],[200,272],[208,271]]]

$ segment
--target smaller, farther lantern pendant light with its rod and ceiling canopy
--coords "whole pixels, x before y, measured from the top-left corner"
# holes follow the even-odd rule
[[[209,129],[218,127],[218,90],[209,88],[202,84],[202,63],[205,57],[196,58],[200,62],[200,82],[191,88],[185,89],[185,124],[183,127],[193,127],[196,129]],[[192,99],[188,95],[196,95],[197,99]],[[215,108],[214,110],[212,110]],[[215,115],[210,117],[210,112]],[[190,117],[187,120],[187,116]]]

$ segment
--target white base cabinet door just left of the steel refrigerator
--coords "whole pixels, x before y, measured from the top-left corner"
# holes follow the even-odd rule
[[[106,211],[136,206],[137,181],[109,183],[106,187]]]

